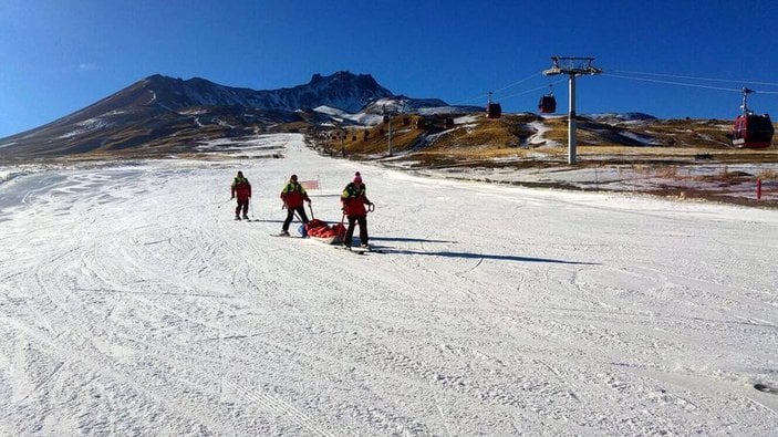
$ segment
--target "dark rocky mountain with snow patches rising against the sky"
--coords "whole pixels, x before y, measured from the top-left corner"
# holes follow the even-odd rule
[[[187,152],[197,142],[267,129],[297,131],[331,117],[375,123],[376,102],[408,108],[446,105],[439,100],[395,96],[370,74],[313,74],[311,81],[257,91],[205,79],[145,77],[83,110],[41,127],[0,139],[0,158],[30,158],[93,150]],[[332,108],[331,113],[313,108]],[[364,111],[367,108],[369,111]],[[334,115],[333,115],[334,114]]]

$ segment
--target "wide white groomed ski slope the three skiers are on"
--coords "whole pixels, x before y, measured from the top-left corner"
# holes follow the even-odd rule
[[[0,435],[778,429],[775,210],[241,144],[0,184]],[[255,221],[232,219],[237,170]],[[383,253],[270,236],[289,175],[338,222],[355,170]]]

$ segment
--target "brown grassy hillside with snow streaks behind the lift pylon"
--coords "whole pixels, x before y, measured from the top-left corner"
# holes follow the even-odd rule
[[[587,162],[640,160],[673,163],[703,159],[723,162],[776,162],[775,146],[767,149],[734,149],[727,137],[730,122],[668,119],[644,122],[578,119],[578,158]],[[544,131],[542,131],[544,129]],[[392,149],[400,159],[418,165],[543,166],[567,159],[566,116],[542,117],[509,114],[488,119],[483,114],[467,116],[396,116],[392,118]],[[542,131],[542,132],[540,132]],[[374,158],[388,153],[387,125],[345,131],[321,136],[324,150],[354,158]]]

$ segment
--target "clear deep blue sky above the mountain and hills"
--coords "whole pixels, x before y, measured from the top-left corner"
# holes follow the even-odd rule
[[[733,118],[743,86],[778,114],[776,44],[776,1],[1,0],[0,137],[156,73],[272,90],[347,70],[452,104],[496,91],[505,112],[554,84],[567,111],[551,55],[604,70],[578,80],[579,114]]]

